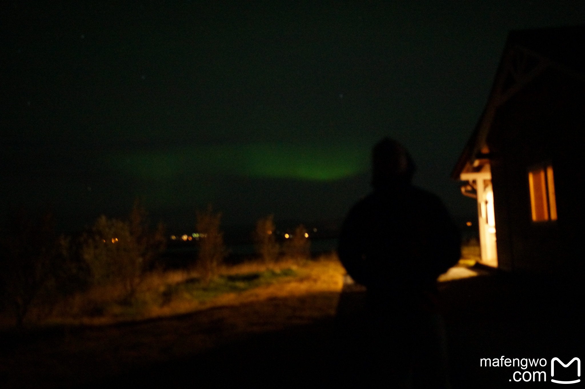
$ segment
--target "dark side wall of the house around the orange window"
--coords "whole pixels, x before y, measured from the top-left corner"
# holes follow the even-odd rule
[[[494,154],[498,260],[504,270],[583,266],[584,119],[585,83],[553,68],[498,108],[487,144]],[[555,173],[558,221],[535,223],[527,172],[545,161]]]

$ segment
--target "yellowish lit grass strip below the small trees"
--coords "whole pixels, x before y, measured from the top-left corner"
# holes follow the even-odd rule
[[[122,285],[98,285],[60,301],[50,314],[30,321],[30,326],[101,326],[339,292],[345,269],[331,254],[312,260],[285,258],[271,264],[247,261],[223,265],[218,273],[206,283],[195,269],[154,270],[144,276],[135,295],[128,299],[123,298]],[[0,315],[0,329],[12,326],[11,320]]]

